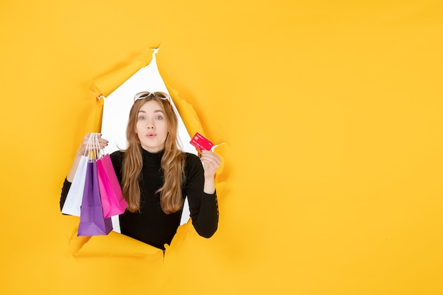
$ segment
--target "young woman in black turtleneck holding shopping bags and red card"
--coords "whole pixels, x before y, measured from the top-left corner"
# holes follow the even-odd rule
[[[163,250],[180,226],[185,197],[200,236],[211,237],[219,221],[214,175],[220,158],[212,151],[202,151],[200,158],[180,151],[177,129],[178,119],[166,93],[137,93],[127,125],[127,149],[110,154],[128,204],[120,215],[122,234]],[[60,208],[88,137],[86,134],[64,181]],[[101,137],[99,141],[101,149],[108,145]]]

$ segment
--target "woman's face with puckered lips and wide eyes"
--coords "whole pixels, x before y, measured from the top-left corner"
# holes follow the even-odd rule
[[[135,133],[139,137],[142,148],[146,151],[158,153],[165,148],[168,122],[166,122],[161,104],[156,100],[149,100],[140,108]]]

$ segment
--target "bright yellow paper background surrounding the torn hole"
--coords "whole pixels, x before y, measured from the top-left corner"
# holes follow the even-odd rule
[[[1,294],[443,294],[442,1],[8,0],[0,25]],[[159,44],[229,142],[219,230],[73,256],[91,83]]]

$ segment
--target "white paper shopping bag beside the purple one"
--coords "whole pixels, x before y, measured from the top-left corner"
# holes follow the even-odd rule
[[[80,216],[81,201],[86,179],[86,167],[88,166],[88,157],[81,156],[79,166],[77,166],[71,187],[69,187],[68,195],[64,201],[62,213],[74,216]]]

